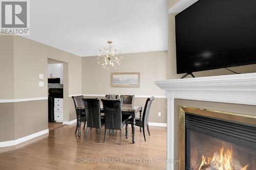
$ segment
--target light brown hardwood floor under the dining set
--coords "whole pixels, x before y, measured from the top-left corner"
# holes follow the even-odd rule
[[[131,126],[129,139],[125,139],[123,129],[123,140],[120,145],[119,132],[114,136],[107,135],[106,143],[103,143],[102,135],[101,142],[98,143],[98,134],[94,129],[88,141],[84,142],[84,130],[81,138],[78,138],[74,134],[75,124],[62,126],[50,131],[49,135],[40,136],[15,147],[0,148],[0,169],[165,169],[166,164],[156,163],[155,159],[166,159],[166,128],[150,127],[150,130],[151,136],[146,135],[145,142],[142,132],[140,133],[136,127],[136,143],[132,144]],[[94,162],[96,158],[101,161],[104,158],[110,161],[116,159],[120,163],[85,163],[84,160],[88,158]],[[139,159],[142,159],[142,163]],[[143,159],[152,159],[153,163],[143,162]]]

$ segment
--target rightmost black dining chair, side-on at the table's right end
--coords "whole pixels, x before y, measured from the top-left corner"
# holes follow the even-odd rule
[[[135,126],[138,126],[140,128],[142,128],[143,131],[143,136],[144,136],[144,140],[146,141],[146,136],[145,136],[145,127],[147,128],[147,133],[148,135],[150,135],[150,129],[148,128],[148,117],[150,115],[150,108],[151,108],[151,104],[152,102],[155,100],[154,97],[151,98],[147,98],[146,100],[146,104],[143,110],[143,115],[142,118],[135,118]],[[128,124],[133,124],[133,119],[128,119],[125,122],[125,136],[127,137],[127,128],[128,128]],[[132,126],[133,128],[133,126]],[[133,132],[135,132],[135,130],[133,130]]]

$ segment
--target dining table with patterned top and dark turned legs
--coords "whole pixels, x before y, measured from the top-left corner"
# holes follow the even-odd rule
[[[81,117],[81,113],[82,113],[82,110],[84,109],[84,107],[80,106],[80,107],[77,107],[76,109],[79,110],[77,117],[78,117],[78,137],[80,137],[81,136],[80,117]],[[101,113],[104,113],[104,108],[103,108],[102,105],[100,105],[100,111],[101,111]],[[141,118],[141,116],[142,116],[142,106],[135,106],[135,105],[132,105],[132,104],[122,104],[121,105],[121,111],[122,111],[122,115],[131,115],[132,116],[132,119],[133,119],[132,142],[135,143],[135,116],[136,116],[137,113],[139,113],[139,116]],[[140,131],[141,131],[141,129],[140,129]]]

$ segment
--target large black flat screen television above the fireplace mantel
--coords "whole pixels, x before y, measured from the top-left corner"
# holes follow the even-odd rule
[[[175,22],[177,74],[256,63],[255,0],[199,0]]]

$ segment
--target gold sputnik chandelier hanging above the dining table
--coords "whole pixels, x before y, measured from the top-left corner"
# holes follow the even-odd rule
[[[108,41],[109,47],[104,47],[103,50],[99,50],[100,54],[98,57],[98,64],[101,64],[103,68],[110,70],[111,66],[117,69],[117,65],[120,64],[120,59],[123,57],[119,56],[121,53],[117,52],[118,48],[112,47],[112,41]]]

